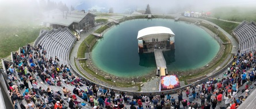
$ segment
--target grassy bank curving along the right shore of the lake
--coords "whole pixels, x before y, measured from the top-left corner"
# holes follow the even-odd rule
[[[181,18],[180,20],[182,21],[186,21],[186,22],[190,22],[190,23],[194,23],[195,21],[193,20],[189,20],[189,19],[186,19],[186,18]],[[234,28],[228,28],[226,25],[221,25],[221,22],[223,24],[225,24],[226,22],[224,21],[221,21],[221,22],[214,22],[214,20],[212,20],[213,23],[216,23],[216,25],[220,26],[221,28],[225,28],[224,30],[226,30],[227,32],[230,32],[232,29]],[[230,24],[229,22],[227,24]],[[205,28],[211,30],[213,33],[216,33],[218,29],[214,28],[212,25],[209,25],[209,24],[205,24],[203,22],[201,22],[200,24],[201,26],[204,26]],[[234,23],[230,24],[232,26],[236,25]],[[230,40],[228,40],[228,38],[222,33],[222,32],[219,32],[219,35],[220,39],[223,41],[223,42],[230,42]],[[193,75],[188,75],[188,76],[181,76],[179,77],[179,80],[181,81],[185,81],[185,84],[188,84],[186,82],[186,80],[189,80],[189,79],[195,79],[197,77],[200,77],[200,76],[203,76],[203,75],[206,75],[207,73],[213,71],[215,68],[217,68],[220,64],[222,64],[228,57],[228,54],[230,54],[231,52],[231,49],[232,49],[232,45],[231,44],[226,44],[224,45],[225,49],[224,49],[224,53],[223,53],[223,56],[221,57],[221,59],[217,60],[216,63],[214,65],[212,65],[210,68],[207,68],[205,69],[204,71],[202,72],[198,72],[198,73],[195,73]],[[220,49],[221,50],[221,49]]]

